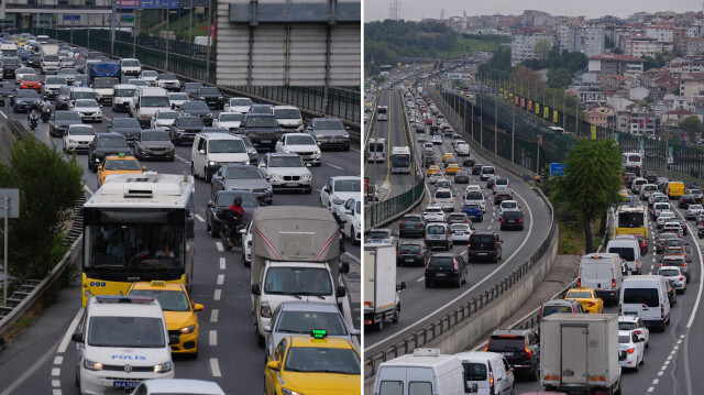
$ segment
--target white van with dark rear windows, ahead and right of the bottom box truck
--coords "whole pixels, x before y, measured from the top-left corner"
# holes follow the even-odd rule
[[[663,276],[641,275],[624,278],[618,315],[638,316],[648,327],[664,331],[670,323],[668,281]]]

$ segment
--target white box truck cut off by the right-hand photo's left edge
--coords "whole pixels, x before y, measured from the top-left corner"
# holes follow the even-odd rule
[[[399,293],[406,283],[396,285],[396,246],[376,244],[364,246],[364,325],[377,330],[384,321],[398,322]]]

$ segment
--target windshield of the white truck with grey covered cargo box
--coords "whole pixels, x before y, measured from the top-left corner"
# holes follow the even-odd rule
[[[264,290],[284,295],[332,295],[332,282],[326,268],[271,267],[266,271]]]

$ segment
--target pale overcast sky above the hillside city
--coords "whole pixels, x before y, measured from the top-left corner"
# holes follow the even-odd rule
[[[398,0],[399,18],[407,21],[419,21],[422,18],[488,15],[519,15],[524,10],[546,11],[552,15],[598,18],[615,15],[627,18],[635,12],[657,11],[702,11],[704,0]],[[391,0],[364,0],[364,20],[381,21],[388,17]]]

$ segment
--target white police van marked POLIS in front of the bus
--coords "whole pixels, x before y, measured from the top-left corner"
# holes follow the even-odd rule
[[[174,378],[169,344],[178,343],[178,334],[168,334],[155,298],[94,296],[72,340],[81,394],[125,391],[148,378]]]

